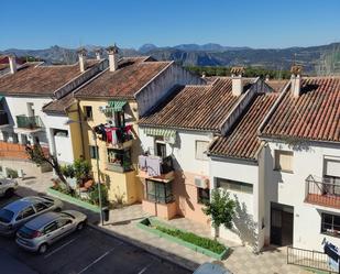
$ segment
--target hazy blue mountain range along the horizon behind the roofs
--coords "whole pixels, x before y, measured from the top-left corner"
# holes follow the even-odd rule
[[[96,47],[85,46],[89,56],[94,57]],[[33,56],[44,59],[47,64],[72,64],[77,61],[75,48],[51,46],[44,50],[9,48],[0,54],[12,53],[17,56]],[[184,66],[233,66],[244,65],[265,67],[270,69],[289,69],[292,64],[304,66],[305,72],[315,73],[326,67],[340,72],[340,43],[320,46],[288,47],[288,48],[251,48],[232,47],[220,44],[180,44],[175,46],[158,47],[154,44],[144,44],[140,48],[121,48],[122,56],[150,55],[156,59],[175,61]],[[328,64],[328,63],[331,64]]]

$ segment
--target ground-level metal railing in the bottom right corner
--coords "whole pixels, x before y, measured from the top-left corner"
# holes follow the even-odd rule
[[[327,273],[338,273],[338,271],[331,268],[329,265],[327,254],[314,250],[287,246],[287,264],[325,271]]]

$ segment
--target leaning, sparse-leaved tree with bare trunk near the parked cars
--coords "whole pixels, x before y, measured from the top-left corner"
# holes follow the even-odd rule
[[[40,144],[26,145],[25,151],[30,160],[33,161],[37,166],[43,164],[50,165],[54,169],[61,182],[65,184],[66,189],[70,190],[70,186],[68,185],[62,173],[62,168],[56,156],[52,155],[50,152],[44,153]]]

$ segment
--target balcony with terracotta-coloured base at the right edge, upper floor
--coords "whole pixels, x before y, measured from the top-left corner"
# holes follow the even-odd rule
[[[306,179],[305,202],[340,209],[340,182],[331,182],[329,178],[316,180],[309,175]]]

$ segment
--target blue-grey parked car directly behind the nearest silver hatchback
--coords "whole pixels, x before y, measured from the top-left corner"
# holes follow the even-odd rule
[[[34,217],[62,210],[63,202],[50,197],[25,197],[0,209],[0,234],[14,235],[17,230]]]

